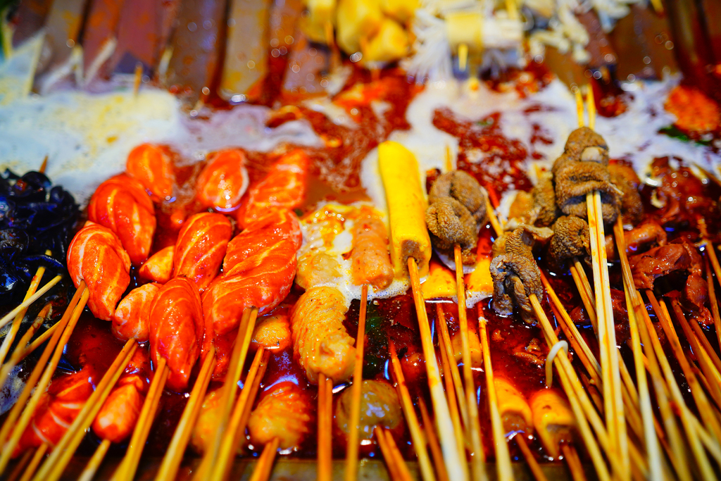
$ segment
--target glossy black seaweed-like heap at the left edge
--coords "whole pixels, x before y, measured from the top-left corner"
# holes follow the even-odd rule
[[[66,272],[79,206],[40,172],[0,175],[0,305],[17,304],[40,265]],[[51,255],[45,255],[50,250]]]

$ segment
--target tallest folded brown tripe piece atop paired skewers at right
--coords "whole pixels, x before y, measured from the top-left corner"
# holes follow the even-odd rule
[[[609,147],[598,133],[581,127],[568,136],[564,153],[553,165],[556,203],[563,213],[587,217],[586,194],[598,190],[603,220],[616,220],[622,191],[611,182],[608,165]]]

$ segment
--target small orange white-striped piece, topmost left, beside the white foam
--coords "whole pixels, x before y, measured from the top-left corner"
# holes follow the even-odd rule
[[[171,152],[166,146],[137,146],[128,154],[125,172],[137,179],[151,193],[155,202],[172,198],[175,173]]]

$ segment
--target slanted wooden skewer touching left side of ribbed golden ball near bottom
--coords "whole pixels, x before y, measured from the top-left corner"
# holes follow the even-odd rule
[[[249,336],[250,335],[251,332],[249,332]],[[257,392],[257,389],[254,389],[254,386],[257,386],[255,382],[256,379],[260,382],[260,378],[262,378],[263,374],[265,374],[268,356],[269,353],[262,347],[255,351],[255,358],[253,358],[253,363],[250,365],[250,369],[248,370],[248,375],[245,378],[243,389],[240,392],[238,401],[236,402],[233,412],[228,420],[228,426],[223,435],[220,449],[218,450],[218,458],[216,459],[216,464],[213,467],[211,480],[221,481],[228,476],[228,472],[231,467],[231,459],[234,458],[235,453],[238,451],[238,437],[241,434],[239,432],[241,431],[240,422],[243,418],[246,406],[252,404],[253,402],[250,394],[252,392]],[[243,426],[243,431],[244,429],[245,426]]]

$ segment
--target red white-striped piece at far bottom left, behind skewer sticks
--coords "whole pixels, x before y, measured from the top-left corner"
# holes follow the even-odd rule
[[[32,421],[22,433],[15,454],[43,443],[55,446],[73,423],[93,392],[94,372],[88,366],[54,379],[43,394]]]

